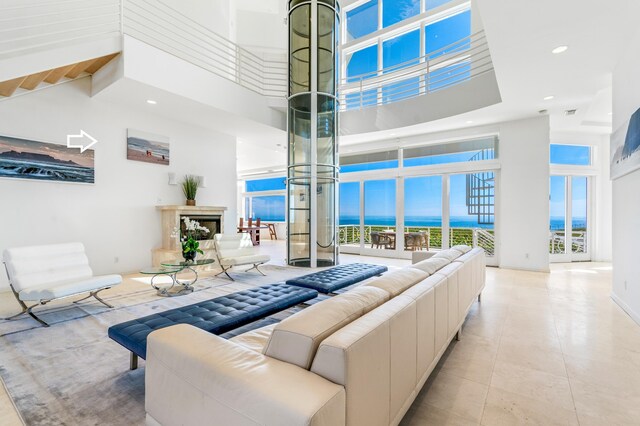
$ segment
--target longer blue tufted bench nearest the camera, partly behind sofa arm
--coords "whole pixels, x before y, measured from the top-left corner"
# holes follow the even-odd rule
[[[132,370],[147,357],[147,336],[175,324],[222,334],[318,296],[315,290],[284,283],[264,285],[182,306],[109,327],[109,337],[131,351]]]

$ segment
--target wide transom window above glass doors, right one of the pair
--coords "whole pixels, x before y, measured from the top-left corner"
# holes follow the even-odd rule
[[[462,163],[497,158],[497,138],[405,148],[404,167]]]

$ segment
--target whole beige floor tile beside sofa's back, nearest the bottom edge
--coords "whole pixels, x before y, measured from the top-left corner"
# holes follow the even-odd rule
[[[416,402],[422,407],[431,405],[467,420],[480,422],[487,389],[486,385],[437,371],[436,376],[422,388]]]

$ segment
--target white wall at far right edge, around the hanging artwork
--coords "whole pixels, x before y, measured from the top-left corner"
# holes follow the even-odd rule
[[[613,130],[640,106],[640,33],[613,73]],[[613,181],[613,299],[640,323],[640,170]]]

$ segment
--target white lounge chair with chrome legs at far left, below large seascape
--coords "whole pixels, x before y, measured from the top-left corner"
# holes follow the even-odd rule
[[[113,308],[98,292],[122,282],[120,275],[94,276],[82,243],[10,248],[4,251],[3,261],[11,290],[22,307],[22,312],[5,319],[26,313],[45,327],[49,324],[32,312],[36,306],[89,292],[73,303],[93,296]],[[27,306],[25,302],[36,303]]]

